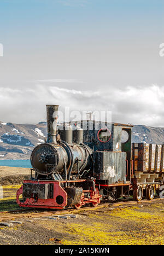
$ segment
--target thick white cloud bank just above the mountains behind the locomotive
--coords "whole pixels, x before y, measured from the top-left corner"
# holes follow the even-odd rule
[[[164,127],[164,86],[126,86],[124,89],[75,90],[36,84],[22,90],[0,88],[0,120],[38,123],[46,120],[45,104],[58,104],[60,110],[108,110],[118,123]]]

